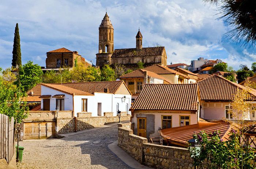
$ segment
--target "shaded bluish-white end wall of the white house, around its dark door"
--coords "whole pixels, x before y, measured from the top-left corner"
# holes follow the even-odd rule
[[[53,98],[52,96],[56,94],[64,94],[65,96],[62,98]],[[54,90],[52,88],[42,86],[41,85],[41,95],[52,95],[49,98],[45,99],[50,99],[50,111],[55,111],[56,110],[56,99],[64,99],[64,110],[71,110],[73,111],[73,96],[67,93],[63,93],[58,90]],[[43,99],[41,99],[41,109],[43,109]]]

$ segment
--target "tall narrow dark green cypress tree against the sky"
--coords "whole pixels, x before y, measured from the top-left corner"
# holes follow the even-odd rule
[[[14,33],[14,42],[12,50],[12,66],[21,66],[21,52],[20,52],[20,38],[19,38],[19,27],[16,23],[15,33]]]

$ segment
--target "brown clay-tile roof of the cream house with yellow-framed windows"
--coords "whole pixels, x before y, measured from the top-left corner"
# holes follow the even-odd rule
[[[133,110],[197,110],[197,84],[145,84]]]

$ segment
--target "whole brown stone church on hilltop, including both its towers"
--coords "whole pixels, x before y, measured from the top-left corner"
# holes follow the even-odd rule
[[[144,67],[153,64],[166,66],[165,47],[143,47],[142,39],[143,37],[139,30],[136,35],[136,48],[114,50],[114,27],[106,12],[99,26],[99,51],[96,54],[96,66],[122,64],[125,68],[132,70],[137,69],[138,62],[143,62]]]

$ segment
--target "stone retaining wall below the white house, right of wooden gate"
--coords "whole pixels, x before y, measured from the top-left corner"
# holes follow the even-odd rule
[[[129,121],[130,115],[124,115],[120,117],[121,121]],[[76,118],[57,118],[56,119],[56,133],[64,134],[75,131],[91,129],[93,127],[103,126],[108,123],[118,122],[117,116],[106,117],[76,117]]]

